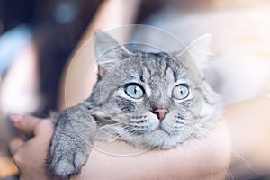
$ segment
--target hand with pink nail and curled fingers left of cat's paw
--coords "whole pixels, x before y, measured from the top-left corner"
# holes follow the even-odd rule
[[[10,142],[10,151],[20,171],[20,180],[50,179],[46,173],[45,160],[54,130],[53,123],[30,115],[11,114],[9,118],[17,130],[33,136],[29,140],[16,137]]]

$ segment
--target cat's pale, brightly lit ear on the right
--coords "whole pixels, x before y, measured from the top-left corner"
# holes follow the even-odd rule
[[[201,71],[202,76],[204,76],[204,71],[209,64],[208,60],[211,58],[212,55],[211,44],[211,34],[204,34],[194,40],[193,43],[191,43],[182,52],[180,52],[177,55],[177,58],[179,58],[180,60],[186,58],[187,60],[194,60],[197,67]]]

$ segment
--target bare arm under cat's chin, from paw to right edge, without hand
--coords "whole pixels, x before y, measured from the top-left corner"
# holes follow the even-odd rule
[[[145,179],[147,175],[148,179],[225,179],[232,175],[240,179],[267,174],[270,171],[268,108],[270,100],[265,97],[230,104],[209,137],[167,151],[115,157],[93,150],[83,173],[74,179],[83,175],[93,179]],[[101,174],[104,169],[106,173]]]

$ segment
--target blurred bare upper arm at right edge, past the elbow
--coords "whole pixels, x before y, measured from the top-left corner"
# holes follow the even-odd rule
[[[230,170],[236,175],[270,172],[270,100],[229,105],[225,114],[232,143]]]

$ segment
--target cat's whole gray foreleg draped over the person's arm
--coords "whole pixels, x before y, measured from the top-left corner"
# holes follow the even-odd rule
[[[94,118],[84,103],[58,113],[49,147],[47,164],[55,179],[67,179],[81,171],[91,152],[95,133]]]

